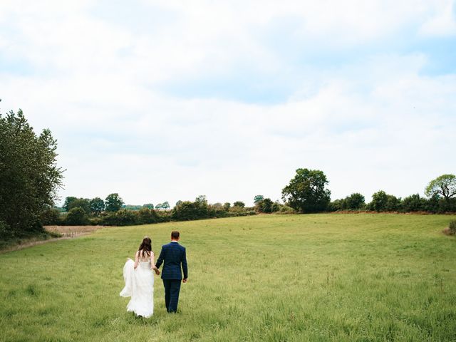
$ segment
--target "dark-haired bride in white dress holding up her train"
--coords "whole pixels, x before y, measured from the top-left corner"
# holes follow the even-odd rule
[[[155,267],[152,240],[149,237],[142,239],[135,261],[128,259],[123,266],[125,287],[120,291],[120,296],[131,297],[127,311],[133,311],[138,316],[150,317],[154,313],[154,276],[160,274]]]

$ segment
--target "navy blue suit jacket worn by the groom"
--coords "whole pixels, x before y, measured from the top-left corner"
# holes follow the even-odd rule
[[[187,257],[185,255],[185,247],[177,242],[170,242],[162,246],[162,252],[157,259],[155,266],[159,268],[163,264],[162,279],[182,279],[182,271],[184,271],[184,278],[188,278],[187,270]]]

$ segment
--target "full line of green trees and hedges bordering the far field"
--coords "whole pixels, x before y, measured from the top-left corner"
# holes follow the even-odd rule
[[[360,193],[331,202],[328,180],[321,170],[300,168],[282,190],[283,203],[256,195],[254,207],[244,202],[209,204],[205,196],[178,201],[125,206],[118,193],[85,199],[67,197],[63,214],[54,207],[63,170],[56,164],[57,142],[48,129],[34,133],[24,113],[0,113],[0,238],[47,234],[43,224],[130,225],[232,217],[257,213],[310,213],[345,210],[375,212],[456,212],[456,176],[441,175],[425,187],[426,197],[395,197],[375,192],[366,203]]]

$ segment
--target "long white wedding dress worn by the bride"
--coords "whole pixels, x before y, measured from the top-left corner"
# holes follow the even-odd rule
[[[135,269],[135,261],[128,259],[123,266],[125,287],[120,291],[120,296],[131,297],[127,311],[133,311],[145,318],[154,313],[154,276],[150,266],[149,259],[139,261]]]

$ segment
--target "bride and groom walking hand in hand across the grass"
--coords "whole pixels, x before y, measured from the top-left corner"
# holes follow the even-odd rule
[[[120,296],[131,297],[127,305],[127,311],[133,311],[138,316],[150,317],[154,313],[154,275],[160,274],[160,266],[163,264],[162,281],[165,286],[166,311],[175,313],[179,301],[180,281],[187,282],[187,258],[185,247],[179,244],[180,234],[171,232],[171,242],[162,246],[162,252],[154,261],[152,240],[149,237],[142,239],[142,243],[135,254],[135,261],[128,259],[123,266],[123,278],[125,287],[120,291]],[[184,278],[182,279],[182,271]]]

